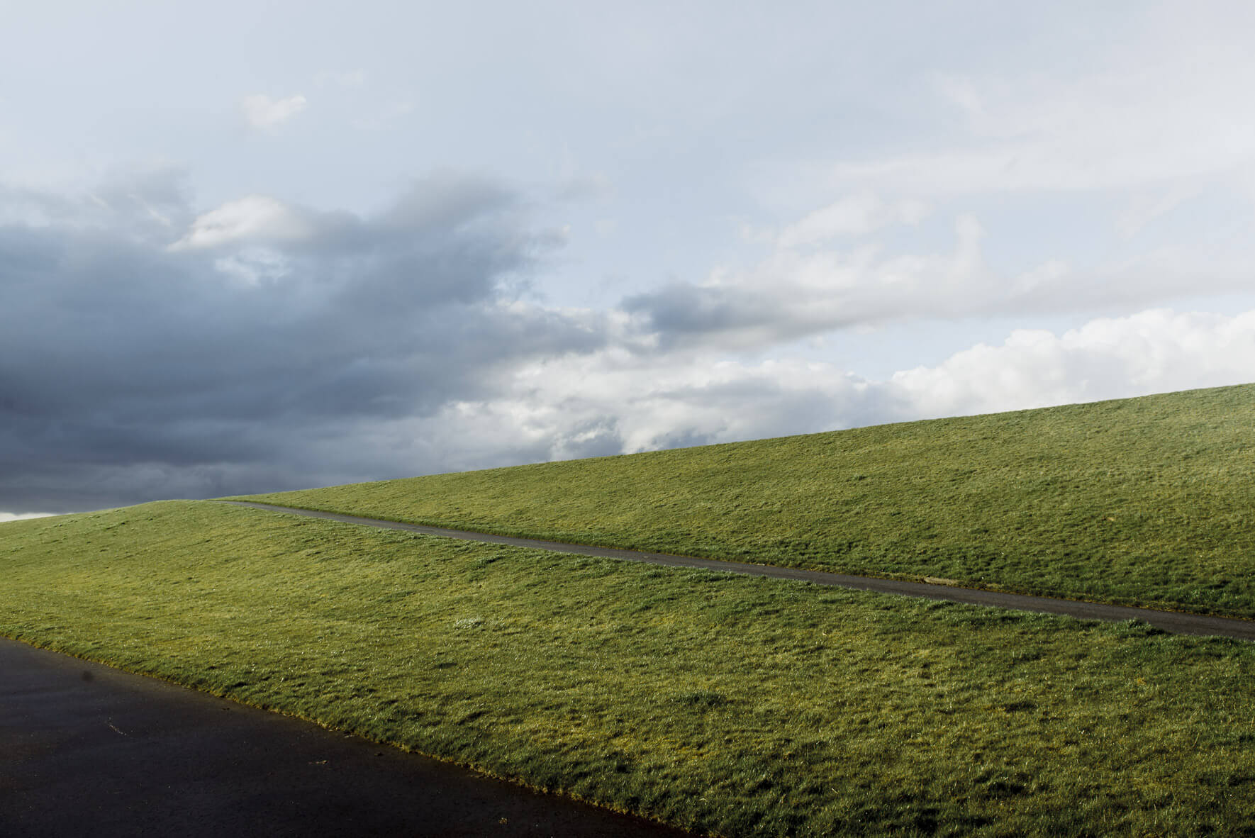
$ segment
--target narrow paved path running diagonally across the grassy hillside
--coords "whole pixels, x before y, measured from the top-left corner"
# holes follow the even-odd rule
[[[833,585],[857,591],[878,591],[881,593],[900,593],[904,596],[916,596],[927,600],[945,600],[949,602],[966,602],[969,605],[994,606],[998,608],[1014,608],[1018,611],[1038,611],[1043,613],[1060,613],[1068,617],[1082,620],[1143,620],[1152,626],[1177,635],[1212,635],[1222,637],[1237,637],[1239,640],[1255,641],[1255,621],[1234,620],[1229,617],[1209,617],[1196,613],[1181,613],[1177,611],[1157,611],[1155,608],[1135,608],[1122,605],[1102,605],[1098,602],[1077,602],[1074,600],[1058,600],[1054,597],[1025,596],[1023,593],[1001,593],[998,591],[978,591],[974,588],[960,588],[949,585],[930,585],[927,582],[904,582],[899,580],[880,580],[868,576],[848,576],[846,573],[826,573],[823,571],[803,571],[794,567],[777,567],[773,565],[750,565],[748,562],[724,562],[714,558],[693,558],[689,556],[671,556],[668,553],[649,553],[638,549],[616,549],[612,547],[587,547],[584,544],[565,544],[556,541],[540,541],[537,538],[515,538],[512,536],[492,536],[488,533],[467,532],[463,529],[446,529],[443,527],[424,527],[419,524],[399,523],[395,521],[380,521],[378,518],[361,518],[359,516],[346,516],[336,512],[315,512],[311,509],[294,509],[291,507],[279,507],[272,503],[256,503],[252,501],[223,501],[241,507],[256,509],[269,509],[272,512],[286,512],[290,514],[306,516],[310,518],[328,518],[330,521],[343,521],[345,523],[363,524],[366,527],[382,527],[384,529],[404,529],[407,532],[420,532],[429,536],[443,536],[446,538],[461,538],[463,541],[482,541],[493,544],[512,544],[515,547],[535,547],[538,549],[551,549],[560,553],[577,553],[580,556],[600,556],[604,558],[624,558],[633,562],[650,562],[653,565],[666,565],[669,567],[697,567],[708,571],[724,571],[729,573],[745,573],[749,576],[768,576],[778,580],[799,580],[814,582],[816,585]]]

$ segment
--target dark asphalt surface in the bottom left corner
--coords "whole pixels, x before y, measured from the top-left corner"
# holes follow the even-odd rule
[[[0,639],[0,837],[684,835]]]

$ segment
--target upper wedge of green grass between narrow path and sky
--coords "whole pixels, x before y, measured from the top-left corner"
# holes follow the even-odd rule
[[[254,496],[1255,617],[1255,385]]]

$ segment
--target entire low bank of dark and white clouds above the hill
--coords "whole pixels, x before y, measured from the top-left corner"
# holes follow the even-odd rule
[[[562,236],[498,182],[430,177],[373,215],[260,194],[195,212],[179,182],[158,171],[80,199],[29,193],[26,220],[0,225],[6,514],[1138,395],[1255,370],[1255,311],[1020,330],[884,380],[791,355],[799,334],[969,312],[981,287],[1028,305],[1032,289],[983,266],[971,218],[949,253],[798,243],[596,311],[530,294]],[[885,207],[862,206],[872,212],[798,228],[842,235]],[[1035,282],[1058,292],[1069,278],[1043,270]]]

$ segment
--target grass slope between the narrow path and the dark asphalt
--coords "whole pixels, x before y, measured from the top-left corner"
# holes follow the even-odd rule
[[[0,524],[0,634],[728,835],[1255,833],[1255,645],[1137,623],[164,502]]]

